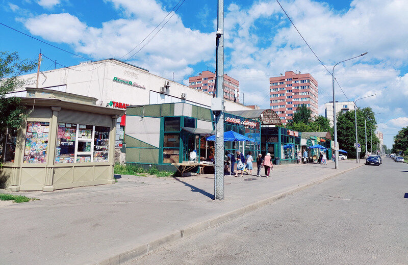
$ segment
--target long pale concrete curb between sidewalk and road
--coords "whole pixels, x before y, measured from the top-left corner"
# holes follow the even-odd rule
[[[215,227],[217,225],[220,225],[222,223],[225,223],[227,221],[230,221],[238,216],[241,216],[243,214],[249,213],[250,211],[256,210],[260,207],[263,207],[269,203],[272,203],[278,199],[284,198],[290,194],[302,191],[304,189],[310,188],[312,186],[315,186],[317,184],[320,184],[330,178],[334,178],[337,177],[341,174],[344,174],[346,172],[349,172],[351,170],[357,169],[364,166],[364,164],[359,164],[356,167],[350,168],[350,169],[346,169],[343,170],[341,172],[337,172],[333,175],[329,175],[327,177],[324,177],[322,179],[319,180],[315,180],[312,181],[310,183],[307,184],[303,184],[302,186],[299,186],[297,188],[288,190],[286,192],[282,192],[279,193],[277,195],[274,195],[272,197],[269,197],[267,199],[263,199],[261,201],[258,202],[254,202],[252,204],[243,206],[241,208],[238,208],[236,210],[230,211],[229,213],[214,217],[212,219],[206,220],[206,221],[202,221],[202,222],[198,222],[192,225],[189,225],[181,230],[176,230],[166,236],[160,237],[157,240],[151,241],[149,243],[145,243],[145,244],[141,244],[139,246],[136,246],[135,248],[128,250],[128,251],[123,251],[121,253],[111,253],[112,256],[104,259],[102,261],[98,261],[95,263],[90,263],[89,265],[119,265],[119,264],[123,264],[126,261],[135,259],[137,257],[141,257],[147,253],[149,253],[150,251],[153,251],[155,249],[164,247],[170,243],[179,241],[181,239],[183,239],[184,237],[189,237],[193,234],[196,234],[198,232],[201,232],[203,230],[206,230],[208,228],[212,228]]]

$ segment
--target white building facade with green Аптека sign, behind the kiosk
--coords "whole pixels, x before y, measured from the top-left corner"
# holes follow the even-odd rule
[[[25,81],[25,87],[36,87],[36,73],[22,75],[21,78]],[[175,102],[210,108],[212,99],[212,95],[206,92],[167,80],[149,73],[146,69],[116,59],[86,62],[40,72],[38,88],[94,97],[98,99],[97,105],[119,109],[126,109],[127,105]],[[25,96],[24,90],[22,87],[13,94]],[[229,100],[225,100],[224,106],[225,111],[250,110],[249,107]],[[124,124],[125,118],[119,118],[117,143],[120,143],[120,138],[123,137]]]

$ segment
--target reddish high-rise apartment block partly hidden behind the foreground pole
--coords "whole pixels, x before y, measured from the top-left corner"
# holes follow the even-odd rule
[[[188,86],[199,91],[204,91],[209,94],[215,93],[215,73],[211,71],[202,71],[197,76],[188,78]],[[239,102],[239,82],[224,74],[224,98]]]

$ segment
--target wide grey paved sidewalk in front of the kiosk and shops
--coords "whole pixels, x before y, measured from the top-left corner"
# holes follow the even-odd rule
[[[122,176],[113,185],[18,192],[40,200],[0,208],[0,264],[119,264],[362,165],[285,165],[271,178],[225,176],[223,201],[212,200],[214,175]]]

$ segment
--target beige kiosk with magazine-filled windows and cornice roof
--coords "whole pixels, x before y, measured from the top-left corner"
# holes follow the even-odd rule
[[[116,119],[124,111],[96,106],[95,101],[27,88],[20,104],[29,118],[20,130],[8,131],[4,143],[3,186],[53,191],[114,183]]]

